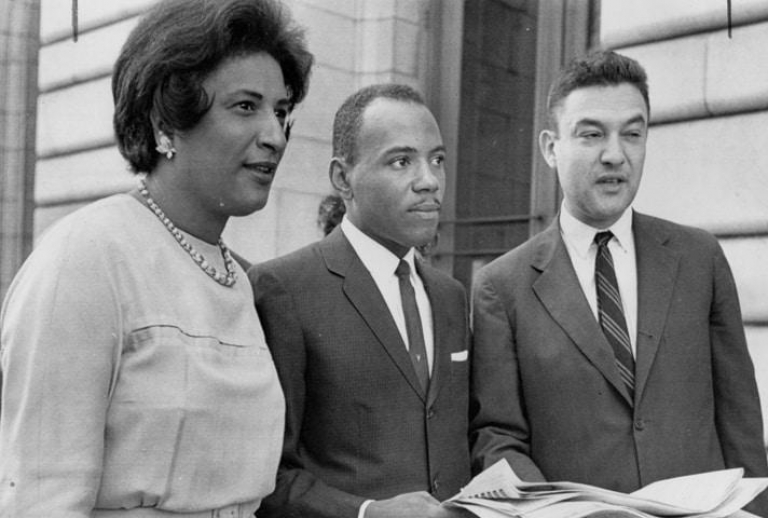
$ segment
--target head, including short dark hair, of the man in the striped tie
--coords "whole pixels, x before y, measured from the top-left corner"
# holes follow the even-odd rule
[[[570,64],[550,94],[551,126],[539,146],[557,170],[563,206],[597,229],[613,225],[640,187],[648,135],[645,71],[601,52]]]

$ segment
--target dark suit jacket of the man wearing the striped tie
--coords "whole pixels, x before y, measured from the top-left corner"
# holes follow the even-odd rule
[[[473,289],[472,458],[523,479],[629,492],[744,467],[766,476],[739,301],[709,234],[634,214],[635,397],[579,285],[557,222],[485,266]],[[752,509],[768,516],[768,506]]]

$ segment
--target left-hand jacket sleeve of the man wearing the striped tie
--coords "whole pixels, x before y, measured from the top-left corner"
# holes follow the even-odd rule
[[[530,430],[518,370],[511,297],[481,271],[472,291],[474,344],[470,376],[472,472],[505,458],[526,481],[544,476],[530,457]]]

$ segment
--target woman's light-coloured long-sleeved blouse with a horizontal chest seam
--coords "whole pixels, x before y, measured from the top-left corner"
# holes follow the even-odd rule
[[[47,233],[0,316],[0,516],[258,507],[285,403],[236,267],[218,284],[125,194]]]

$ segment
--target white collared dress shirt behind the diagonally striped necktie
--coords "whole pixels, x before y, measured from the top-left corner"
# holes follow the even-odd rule
[[[571,258],[579,284],[587,297],[589,307],[598,319],[597,288],[595,286],[595,234],[610,230],[613,237],[608,249],[613,257],[616,281],[619,283],[621,303],[627,321],[627,332],[632,343],[632,354],[637,357],[637,257],[632,235],[632,209],[627,209],[610,228],[596,229],[573,217],[565,206],[560,209],[560,232]]]

